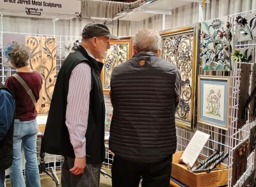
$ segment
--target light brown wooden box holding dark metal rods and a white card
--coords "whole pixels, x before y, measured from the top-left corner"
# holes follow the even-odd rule
[[[228,169],[221,163],[217,166],[220,170],[195,174],[188,170],[186,164],[180,164],[179,160],[183,151],[173,154],[172,177],[189,187],[216,187],[228,184]],[[200,158],[204,158],[200,156]],[[224,169],[226,168],[226,169]]]

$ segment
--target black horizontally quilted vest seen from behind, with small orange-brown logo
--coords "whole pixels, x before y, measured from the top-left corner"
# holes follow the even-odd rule
[[[109,149],[124,160],[161,161],[176,150],[177,68],[140,52],[112,72]]]

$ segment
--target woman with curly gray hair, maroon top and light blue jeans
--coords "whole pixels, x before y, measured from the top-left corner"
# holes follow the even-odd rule
[[[42,88],[40,73],[31,70],[29,66],[29,50],[13,42],[6,47],[4,55],[8,58],[17,74],[28,84],[36,101]],[[16,101],[15,122],[13,132],[13,163],[10,168],[10,177],[13,187],[40,186],[38,162],[36,158],[36,138],[38,124],[36,123],[36,108],[26,93],[24,87],[15,77],[9,77],[5,86],[12,92]],[[22,175],[22,149],[26,158],[26,183]]]

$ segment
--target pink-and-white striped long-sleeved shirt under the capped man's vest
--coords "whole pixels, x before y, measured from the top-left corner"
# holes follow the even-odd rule
[[[93,57],[90,52],[88,54]],[[91,84],[91,67],[87,63],[77,64],[69,79],[66,111],[66,125],[76,158],[86,155],[85,133],[88,123]]]

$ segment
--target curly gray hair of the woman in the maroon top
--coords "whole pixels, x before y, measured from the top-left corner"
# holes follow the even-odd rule
[[[13,42],[8,51],[8,60],[15,68],[22,68],[28,66],[30,50],[17,42]]]

